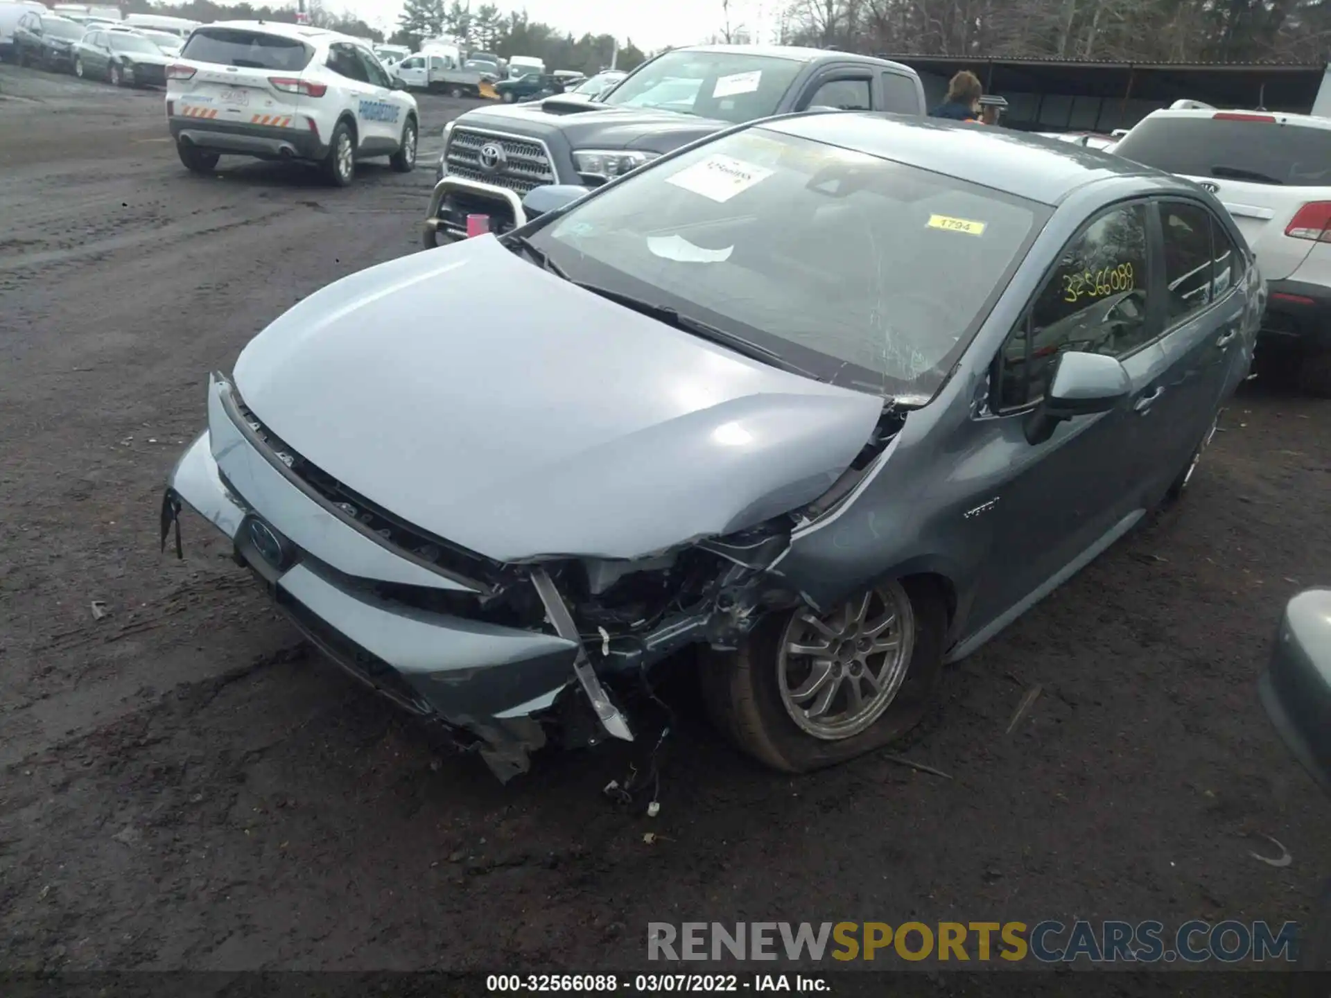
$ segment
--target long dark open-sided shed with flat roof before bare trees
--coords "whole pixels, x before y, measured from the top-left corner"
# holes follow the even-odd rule
[[[1131,128],[1189,97],[1221,108],[1266,108],[1331,117],[1327,63],[1105,63],[1077,59],[961,59],[888,55],[920,73],[929,104],[960,69],[1008,98],[1004,124],[1061,132]]]

